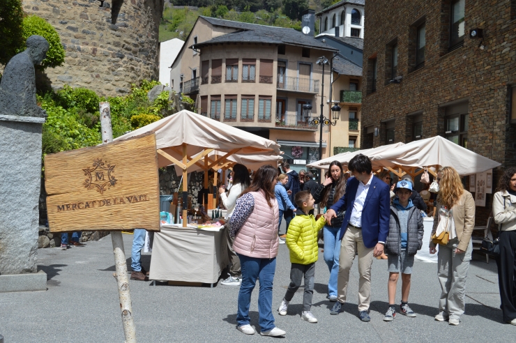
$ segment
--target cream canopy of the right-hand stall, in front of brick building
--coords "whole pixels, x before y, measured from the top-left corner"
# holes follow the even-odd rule
[[[485,172],[501,163],[474,153],[441,136],[420,139],[370,156],[373,165],[386,167],[398,176],[415,176],[420,167],[454,167],[461,176]],[[397,169],[397,170],[396,170]],[[432,169],[428,172],[435,174]]]

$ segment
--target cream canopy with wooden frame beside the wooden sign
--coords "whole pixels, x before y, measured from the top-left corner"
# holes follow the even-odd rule
[[[229,156],[235,153],[280,155],[280,145],[276,142],[187,110],[128,132],[115,140],[135,137],[146,132],[155,132],[159,167],[172,164],[179,166],[182,169],[183,180],[187,180],[188,169],[203,169],[204,188],[208,188],[208,170],[225,167]],[[214,154],[210,158],[208,155],[213,151],[223,154]],[[187,194],[188,184],[183,182],[184,203]],[[183,218],[185,217],[186,208],[183,209]],[[186,221],[183,222],[183,226],[186,227]]]

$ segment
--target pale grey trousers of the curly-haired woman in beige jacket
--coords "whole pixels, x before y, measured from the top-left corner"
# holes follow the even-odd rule
[[[466,277],[468,276],[469,261],[473,252],[473,243],[462,254],[455,254],[458,239],[453,238],[447,245],[439,245],[437,264],[439,283],[441,284],[441,298],[439,311],[444,317],[459,319],[464,314],[464,293],[466,291]]]

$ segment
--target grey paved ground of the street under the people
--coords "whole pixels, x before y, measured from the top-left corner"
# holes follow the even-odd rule
[[[283,225],[284,226],[284,225]],[[124,234],[130,261],[132,235]],[[149,268],[151,255],[144,254]],[[174,263],[171,261],[171,263]],[[400,314],[390,323],[387,310],[387,263],[374,260],[370,323],[358,317],[358,270],[351,270],[344,312],[331,316],[326,300],[328,268],[319,253],[312,312],[319,323],[302,321],[302,287],[287,316],[276,311],[289,284],[289,255],[280,245],[274,278],[273,313],[276,325],[287,331],[284,342],[515,342],[516,326],[501,323],[496,263],[473,254],[466,282],[466,313],[460,326],[434,321],[440,287],[437,264],[416,262],[409,298],[418,317]],[[130,264],[128,264],[130,270]],[[48,275],[47,291],[0,294],[0,335],[12,342],[123,342],[111,236],[85,247],[38,251],[38,269]],[[400,278],[401,279],[401,278]],[[400,280],[401,282],[401,280]],[[258,287],[258,285],[257,285]],[[139,342],[265,342],[273,337],[247,336],[236,330],[239,287],[151,286],[130,281],[132,310]],[[401,284],[398,284],[397,303]],[[258,326],[258,288],[252,296],[251,325]]]

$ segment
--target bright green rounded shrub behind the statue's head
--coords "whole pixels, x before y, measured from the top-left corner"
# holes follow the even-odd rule
[[[54,26],[47,23],[43,18],[38,17],[37,15],[29,15],[28,17],[24,17],[23,20],[23,38],[24,42],[30,36],[38,35],[42,36],[47,40],[50,47],[47,52],[47,57],[41,62],[41,68],[45,69],[47,67],[55,68],[57,66],[62,66],[64,63],[65,52],[63,49],[63,45],[61,44],[61,38],[59,38],[59,34],[57,33]],[[19,48],[21,52],[25,47]]]

